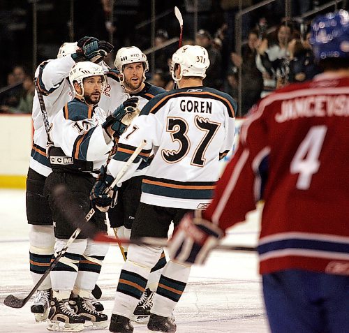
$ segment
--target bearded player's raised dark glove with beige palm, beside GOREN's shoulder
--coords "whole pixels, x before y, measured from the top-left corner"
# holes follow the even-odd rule
[[[133,119],[140,114],[140,110],[137,108],[138,98],[131,97],[126,99],[124,103],[119,105],[117,110],[115,110],[110,116],[105,119],[102,127],[105,130],[111,127],[114,131],[114,138],[119,138],[126,128],[131,124]]]

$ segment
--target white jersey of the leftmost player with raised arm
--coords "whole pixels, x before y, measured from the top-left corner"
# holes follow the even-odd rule
[[[73,98],[73,89],[66,77],[74,64],[75,61],[71,57],[63,57],[44,61],[36,68],[35,77],[38,79],[38,88],[43,94],[49,122]],[[52,170],[46,156],[47,133],[36,91],[31,117],[34,124],[34,138],[29,168],[47,177]]]

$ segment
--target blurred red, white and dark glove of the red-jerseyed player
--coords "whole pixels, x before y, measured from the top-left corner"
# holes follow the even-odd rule
[[[186,214],[174,230],[168,247],[172,260],[186,264],[203,264],[211,249],[223,237],[223,230],[198,215],[198,211]]]

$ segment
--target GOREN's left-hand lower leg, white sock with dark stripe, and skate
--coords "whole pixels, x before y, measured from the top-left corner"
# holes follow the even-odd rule
[[[158,246],[129,246],[128,258],[121,269],[115,295],[110,332],[133,332],[130,318],[140,302],[150,270],[156,265],[161,251],[161,247]]]

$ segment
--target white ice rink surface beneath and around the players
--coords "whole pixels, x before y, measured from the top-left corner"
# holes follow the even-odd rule
[[[9,294],[26,297],[32,288],[32,281],[29,274],[25,192],[0,189],[0,202],[0,332],[49,332],[46,323],[34,322],[30,301],[22,309],[11,309],[3,305],[3,299]],[[258,230],[256,214],[251,214],[247,223],[230,230],[225,242],[254,245]],[[119,248],[110,246],[98,279],[98,286],[103,291],[101,302],[108,316],[112,312],[114,290],[122,262]],[[269,332],[262,302],[257,255],[213,251],[205,266],[192,268],[191,277],[174,316],[178,333]],[[150,332],[145,324],[135,323],[134,327],[135,333]]]

